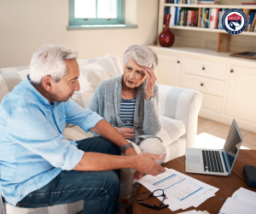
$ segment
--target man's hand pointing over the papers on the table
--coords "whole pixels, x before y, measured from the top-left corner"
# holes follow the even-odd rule
[[[137,171],[146,173],[151,176],[157,176],[160,173],[165,172],[165,168],[157,164],[154,159],[163,159],[165,156],[163,154],[153,154],[153,153],[140,153],[134,156],[136,165],[133,167]],[[138,176],[135,172],[135,176]]]

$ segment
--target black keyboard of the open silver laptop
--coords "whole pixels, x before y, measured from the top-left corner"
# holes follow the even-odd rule
[[[218,151],[202,150],[204,171],[224,172]]]

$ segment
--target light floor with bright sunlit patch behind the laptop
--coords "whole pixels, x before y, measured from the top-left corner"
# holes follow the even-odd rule
[[[221,124],[211,119],[198,117],[196,147],[223,148],[229,134],[230,125]],[[256,150],[256,133],[241,130],[243,149]]]

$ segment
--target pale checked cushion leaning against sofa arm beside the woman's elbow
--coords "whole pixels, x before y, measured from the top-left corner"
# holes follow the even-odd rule
[[[170,119],[164,116],[160,116],[160,119],[162,128],[157,136],[161,138],[164,147],[168,147],[185,134],[186,129],[182,120]]]

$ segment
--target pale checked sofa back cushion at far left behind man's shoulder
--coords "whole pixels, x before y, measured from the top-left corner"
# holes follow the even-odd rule
[[[12,68],[12,67],[11,67]],[[1,69],[2,71],[8,68]],[[9,71],[13,71],[14,69],[11,69]],[[20,82],[26,78],[26,75],[29,74],[30,69],[26,69],[21,72],[3,72],[0,73],[0,102],[3,100],[3,97],[12,91],[17,84],[20,84]]]

